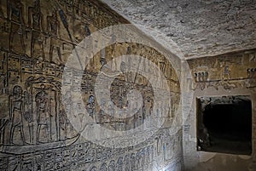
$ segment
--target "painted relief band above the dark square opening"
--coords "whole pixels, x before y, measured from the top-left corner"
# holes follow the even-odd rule
[[[255,50],[224,54],[205,59],[188,60],[194,76],[191,89],[255,88]]]

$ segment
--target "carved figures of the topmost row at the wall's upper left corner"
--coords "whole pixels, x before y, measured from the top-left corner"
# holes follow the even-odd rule
[[[67,15],[58,7],[58,3],[55,3],[55,1],[50,1],[49,3],[52,3],[54,8],[52,9],[52,14],[46,16],[46,26],[44,26],[45,17],[41,10],[40,0],[34,0],[33,6],[28,7],[27,12],[23,10],[25,7],[20,0],[7,1],[7,13],[11,22],[6,24],[10,25],[9,29],[6,28],[4,31],[9,32],[9,51],[30,55],[35,58],[40,57],[42,60],[46,60],[45,47],[47,39],[49,38],[49,59],[47,60],[55,62],[53,58],[54,56],[57,56],[58,63],[63,64],[64,61],[63,56],[61,56],[61,48],[64,49],[64,45],[61,40],[63,39],[63,37],[61,37],[61,26],[65,29],[63,31],[67,32],[68,41],[73,42],[74,38],[71,36],[72,34],[71,29],[69,28],[70,26],[67,20]],[[0,7],[0,9],[1,8],[2,7]],[[28,15],[27,24],[24,20],[24,15],[26,13]],[[26,54],[25,38],[27,39],[28,33],[31,34],[31,54]],[[90,28],[87,23],[84,24],[84,30],[81,31],[80,34],[83,33],[84,36],[90,35]]]

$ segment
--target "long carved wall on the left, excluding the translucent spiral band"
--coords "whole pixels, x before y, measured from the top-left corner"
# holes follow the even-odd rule
[[[64,110],[62,72],[73,48],[94,31],[125,23],[128,22],[106,5],[93,0],[0,1],[0,170],[181,169],[179,122],[175,125],[177,131],[166,123],[149,140],[114,149],[84,140],[67,117],[72,110]],[[177,73],[163,54],[137,43],[116,43],[105,48],[103,54],[106,61],[122,54],[142,55],[159,66],[171,89],[173,100],[168,110],[169,117],[173,117],[180,88]],[[108,101],[122,107],[126,87],[136,88],[144,100],[144,110],[137,116],[119,121],[103,115],[94,103],[94,83],[101,60],[99,52],[80,83],[90,117],[97,117],[97,124],[113,130],[124,131],[143,123],[154,105],[154,92],[143,76],[138,75],[137,82],[131,82],[134,76],[129,74],[117,77],[111,88],[113,101]],[[64,82],[74,83],[76,73],[71,69],[70,79]],[[68,94],[65,97],[70,98]],[[72,100],[69,105],[79,107]],[[178,118],[180,121],[181,115]]]

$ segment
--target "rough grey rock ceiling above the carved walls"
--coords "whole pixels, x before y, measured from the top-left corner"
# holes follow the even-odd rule
[[[102,0],[181,58],[256,48],[255,0]],[[183,52],[178,54],[177,47]]]

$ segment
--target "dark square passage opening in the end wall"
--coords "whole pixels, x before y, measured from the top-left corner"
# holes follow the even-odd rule
[[[252,153],[252,103],[246,96],[201,98],[198,117],[199,150]]]

